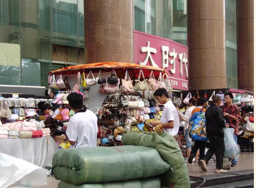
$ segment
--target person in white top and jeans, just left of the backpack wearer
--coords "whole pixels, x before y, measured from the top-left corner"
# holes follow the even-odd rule
[[[181,113],[180,109],[177,109],[177,110],[178,110],[178,114],[179,114],[180,119],[185,122],[184,136],[185,136],[185,139],[186,139],[187,155],[189,156],[190,152],[191,152],[191,147],[192,147],[192,139],[188,135],[188,123],[189,123],[189,120],[190,120],[190,117],[191,117],[191,113],[192,113],[193,109],[196,106],[197,100],[195,98],[190,98],[188,103],[189,103],[189,108],[186,109],[185,114]]]

